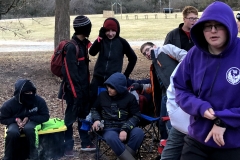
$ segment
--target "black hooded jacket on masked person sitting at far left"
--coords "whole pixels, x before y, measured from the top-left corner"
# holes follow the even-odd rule
[[[0,108],[0,122],[1,124],[10,125],[16,123],[15,119],[24,119],[28,117],[30,121],[37,124],[48,121],[49,111],[47,104],[43,98],[36,95],[33,108],[27,109],[21,103],[20,94],[23,85],[27,80],[18,80],[15,84],[14,97],[6,101]]]

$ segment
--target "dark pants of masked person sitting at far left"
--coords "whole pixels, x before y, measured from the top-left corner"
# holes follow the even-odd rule
[[[33,121],[27,122],[22,131],[19,131],[17,123],[12,123],[8,126],[6,138],[5,138],[5,155],[4,160],[14,160],[13,157],[19,149],[20,134],[24,133],[29,145],[29,158],[32,160],[38,159],[37,147],[38,147],[38,134],[35,131],[36,123]]]

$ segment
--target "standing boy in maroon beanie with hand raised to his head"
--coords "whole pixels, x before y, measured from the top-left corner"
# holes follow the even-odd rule
[[[137,56],[129,43],[120,37],[120,25],[115,18],[107,18],[104,21],[103,27],[99,31],[99,37],[91,46],[89,54],[92,56],[98,54],[90,85],[92,106],[98,94],[98,87],[102,86],[113,73],[122,72],[124,55],[128,58],[128,64],[124,71],[126,78],[133,71]]]

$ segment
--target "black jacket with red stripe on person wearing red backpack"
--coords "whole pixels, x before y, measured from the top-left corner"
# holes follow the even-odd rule
[[[73,35],[72,39],[78,44],[79,54],[77,58],[73,43],[65,47],[66,56],[62,67],[63,82],[66,82],[65,91],[71,91],[74,98],[87,101],[90,83],[88,47],[91,43],[87,39],[80,41],[76,35]]]

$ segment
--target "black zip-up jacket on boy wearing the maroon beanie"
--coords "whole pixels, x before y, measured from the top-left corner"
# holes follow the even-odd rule
[[[112,19],[112,18],[109,18]],[[112,19],[116,21],[116,19]],[[124,55],[128,58],[128,64],[124,75],[128,78],[137,62],[137,56],[130,47],[129,43],[119,36],[120,25],[118,32],[113,39],[103,38],[100,42],[96,39],[89,50],[92,56],[98,55],[97,62],[94,67],[93,76],[97,76],[106,80],[110,75],[116,72],[122,72]]]

